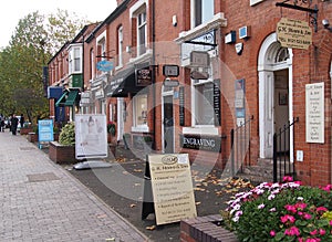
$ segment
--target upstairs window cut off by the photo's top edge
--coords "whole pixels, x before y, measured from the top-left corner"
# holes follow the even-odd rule
[[[191,0],[191,25],[198,27],[210,21],[215,14],[214,0]]]

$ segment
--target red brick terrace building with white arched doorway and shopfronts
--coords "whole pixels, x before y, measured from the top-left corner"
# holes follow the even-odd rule
[[[331,182],[332,4],[280,2],[117,1],[82,34],[76,112],[106,114],[134,148],[148,136],[231,175],[274,155],[304,183]]]

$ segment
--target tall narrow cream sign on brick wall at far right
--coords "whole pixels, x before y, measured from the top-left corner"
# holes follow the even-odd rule
[[[324,83],[305,85],[307,143],[324,143]]]

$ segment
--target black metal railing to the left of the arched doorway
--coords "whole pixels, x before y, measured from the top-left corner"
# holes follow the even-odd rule
[[[230,130],[230,172],[242,172],[242,165],[250,166],[250,136],[253,116],[243,120],[243,124]]]

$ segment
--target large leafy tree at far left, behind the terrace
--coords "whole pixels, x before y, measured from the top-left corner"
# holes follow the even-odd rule
[[[86,20],[59,10],[48,18],[38,11],[21,19],[10,44],[0,51],[0,111],[6,115],[25,113],[31,122],[49,117],[42,67]]]

